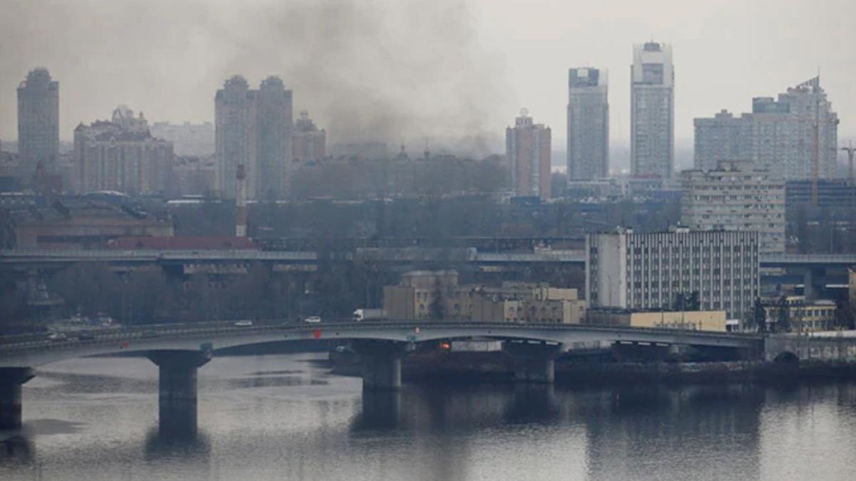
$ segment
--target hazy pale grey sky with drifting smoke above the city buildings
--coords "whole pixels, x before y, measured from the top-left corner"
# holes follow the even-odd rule
[[[0,0],[0,139],[15,87],[60,81],[62,139],[116,104],[152,121],[213,121],[230,74],[294,90],[331,141],[452,137],[499,145],[526,107],[562,150],[567,70],[609,70],[612,140],[626,143],[633,43],[673,45],[675,135],[817,74],[856,135],[853,0]],[[415,147],[421,150],[422,145]]]

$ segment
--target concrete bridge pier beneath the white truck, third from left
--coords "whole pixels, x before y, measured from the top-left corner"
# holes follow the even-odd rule
[[[389,341],[354,341],[363,363],[363,390],[401,389],[401,358],[407,344]]]

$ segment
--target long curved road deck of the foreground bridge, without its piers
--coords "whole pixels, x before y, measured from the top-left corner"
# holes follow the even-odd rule
[[[0,337],[0,367],[35,367],[62,359],[155,350],[211,350],[276,341],[376,340],[425,342],[473,337],[557,343],[646,342],[712,347],[758,347],[761,336],[711,331],[586,324],[384,321],[362,323],[160,324],[86,331],[91,337],[51,341],[47,336]]]

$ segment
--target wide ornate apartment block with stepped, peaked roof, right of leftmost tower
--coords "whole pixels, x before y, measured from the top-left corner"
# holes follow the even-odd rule
[[[124,105],[113,110],[110,121],[74,129],[75,187],[80,193],[163,193],[173,161],[172,142],[153,138],[142,112],[135,117]]]

